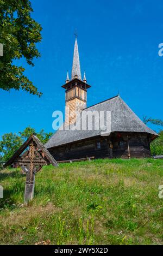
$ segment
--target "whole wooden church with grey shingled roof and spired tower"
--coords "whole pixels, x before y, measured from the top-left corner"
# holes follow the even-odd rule
[[[86,76],[82,80],[77,39],[74,44],[71,79],[67,73],[66,84],[62,86],[66,93],[65,123],[45,144],[57,161],[69,159],[95,158],[130,158],[150,157],[150,142],[158,134],[148,128],[129,108],[120,96],[115,96],[89,108],[87,104]],[[90,89],[91,90],[91,89]],[[80,115],[76,115],[76,111]],[[87,121],[86,129],[72,129],[83,118],[83,112],[110,111],[110,133],[95,129],[96,118]],[[105,117],[104,117],[105,118]],[[106,126],[107,121],[104,120]],[[88,127],[92,127],[89,129]],[[66,129],[66,128],[69,129]]]

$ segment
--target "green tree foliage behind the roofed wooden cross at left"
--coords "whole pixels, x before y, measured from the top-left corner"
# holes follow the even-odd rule
[[[7,161],[33,133],[43,144],[52,136],[52,133],[46,133],[43,129],[40,130],[39,133],[36,133],[35,129],[31,127],[27,127],[23,132],[19,132],[18,135],[16,133],[6,133],[2,136],[2,140],[0,141],[1,161]]]

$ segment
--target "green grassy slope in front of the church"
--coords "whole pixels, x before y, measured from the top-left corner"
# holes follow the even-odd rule
[[[162,160],[45,166],[29,206],[20,169],[3,170],[0,178],[1,245],[163,245]]]

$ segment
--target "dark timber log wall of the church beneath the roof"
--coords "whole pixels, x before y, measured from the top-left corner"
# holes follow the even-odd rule
[[[128,158],[127,136],[130,157],[151,156],[150,139],[146,133],[113,133],[108,138],[99,136],[96,139],[86,139],[82,142],[50,148],[49,152],[57,161],[85,157],[110,158],[110,144],[112,144],[112,158]],[[101,148],[97,148],[97,142],[100,142]]]

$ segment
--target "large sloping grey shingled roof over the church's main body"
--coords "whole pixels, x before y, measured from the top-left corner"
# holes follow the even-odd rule
[[[139,132],[158,136],[152,129],[148,128],[138,116],[129,108],[120,96],[105,100],[104,102],[90,106],[86,111],[111,111],[111,133],[112,132]],[[82,119],[82,114],[80,115]],[[82,120],[81,120],[82,121]],[[106,120],[105,120],[106,121]],[[92,120],[95,127],[95,119]],[[83,140],[101,135],[102,130],[60,130],[55,132],[51,139],[45,144],[46,148],[56,147],[70,142]]]

